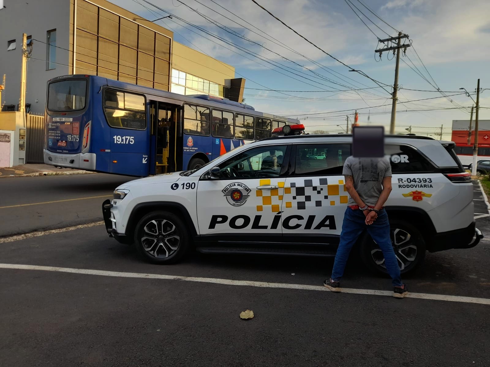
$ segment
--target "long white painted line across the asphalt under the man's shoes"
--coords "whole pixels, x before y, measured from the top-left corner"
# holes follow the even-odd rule
[[[191,282],[214,283],[214,284],[233,285],[233,286],[248,286],[248,287],[259,287],[259,288],[284,288],[284,289],[299,289],[299,290],[306,290],[306,291],[327,291],[327,292],[329,292],[327,288],[325,288],[324,286],[319,286],[319,285],[269,283],[269,282],[258,282],[258,281],[252,281],[252,280],[201,278],[201,277],[180,276],[180,275],[111,272],[111,271],[106,271],[106,270],[59,268],[59,267],[54,267],[54,266],[41,266],[41,265],[0,264],[0,269],[44,270],[44,271],[49,271],[49,272],[62,272],[62,273],[73,273],[73,274],[117,276],[117,277],[125,277],[125,278],[183,280],[183,281],[191,281]],[[378,291],[378,290],[373,290],[373,289],[354,289],[354,288],[342,288],[342,292],[343,293],[359,294],[359,295],[373,295],[373,296],[392,296],[392,294],[393,294],[393,292],[390,292],[390,291]],[[437,301],[465,302],[465,303],[478,303],[478,304],[490,305],[490,299],[489,298],[433,295],[433,294],[427,294],[427,293],[409,293],[406,297],[407,298],[419,298],[419,299],[431,299],[431,300],[437,300]]]

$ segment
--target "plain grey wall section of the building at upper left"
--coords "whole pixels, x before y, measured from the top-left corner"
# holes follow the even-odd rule
[[[4,6],[0,10],[0,79],[6,74],[6,82],[1,98],[5,104],[17,106],[20,96],[22,34],[46,42],[47,31],[56,28],[56,46],[69,49],[70,0],[4,0]],[[7,51],[7,43],[13,39],[17,47]],[[46,50],[44,43],[34,41],[31,58],[27,62],[25,103],[31,104],[32,112],[41,114],[44,114],[45,109],[46,82],[70,73],[68,66],[63,65],[46,70]],[[69,51],[57,48],[56,63],[69,65]]]

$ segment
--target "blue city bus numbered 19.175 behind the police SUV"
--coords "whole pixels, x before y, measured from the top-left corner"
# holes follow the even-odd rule
[[[195,169],[298,120],[94,75],[48,81],[44,161],[146,177]]]

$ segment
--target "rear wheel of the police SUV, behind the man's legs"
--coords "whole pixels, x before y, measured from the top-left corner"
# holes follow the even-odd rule
[[[400,273],[409,273],[420,266],[425,258],[423,236],[414,225],[398,219],[390,220],[390,228],[393,250],[398,259]],[[406,233],[409,234],[408,239],[404,239]],[[398,245],[395,245],[394,237],[396,237]],[[375,273],[388,274],[384,266],[383,253],[368,233],[365,234],[361,242],[360,252],[361,259],[369,270]]]

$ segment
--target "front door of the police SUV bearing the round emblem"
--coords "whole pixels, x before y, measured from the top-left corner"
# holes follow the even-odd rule
[[[280,237],[287,162],[288,145],[259,146],[220,163],[219,179],[204,175],[197,185],[199,233],[225,242]]]

